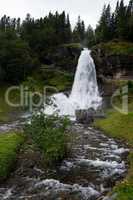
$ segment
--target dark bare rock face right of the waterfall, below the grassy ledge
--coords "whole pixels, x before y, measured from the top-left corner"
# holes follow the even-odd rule
[[[133,55],[109,54],[106,49],[95,46],[92,57],[96,65],[98,79],[133,78]],[[104,77],[104,78],[103,78]]]

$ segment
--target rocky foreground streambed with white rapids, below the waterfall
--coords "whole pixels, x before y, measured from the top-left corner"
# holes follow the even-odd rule
[[[14,127],[13,127],[14,128]],[[45,167],[32,145],[18,155],[15,171],[0,186],[4,200],[104,199],[127,171],[128,149],[85,125],[72,125],[71,153],[56,167]]]

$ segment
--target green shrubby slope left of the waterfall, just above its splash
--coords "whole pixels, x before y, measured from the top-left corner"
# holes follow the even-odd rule
[[[44,87],[49,86],[60,92],[71,89],[72,83],[73,74],[44,65],[41,70],[35,71],[32,77],[28,77],[23,85],[28,86],[31,91],[44,92]]]

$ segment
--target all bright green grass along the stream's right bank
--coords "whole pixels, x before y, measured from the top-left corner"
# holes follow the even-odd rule
[[[95,121],[94,125],[103,130],[111,137],[118,138],[129,144],[133,148],[133,102],[129,105],[130,111],[128,115],[121,114],[115,110],[107,113],[107,118]],[[130,152],[129,171],[126,179],[119,183],[114,192],[117,192],[115,200],[133,200],[133,152]]]

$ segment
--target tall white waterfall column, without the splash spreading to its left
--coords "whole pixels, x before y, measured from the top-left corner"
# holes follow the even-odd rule
[[[88,49],[84,49],[79,58],[70,101],[79,109],[96,109],[101,102],[95,64]]]

